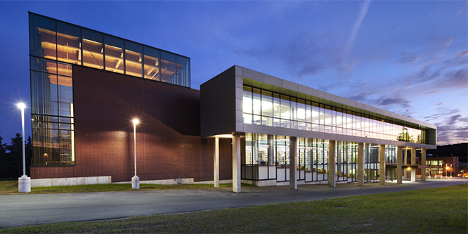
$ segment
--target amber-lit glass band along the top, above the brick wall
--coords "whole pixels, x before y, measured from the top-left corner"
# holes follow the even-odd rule
[[[34,13],[30,56],[190,87],[190,58]]]

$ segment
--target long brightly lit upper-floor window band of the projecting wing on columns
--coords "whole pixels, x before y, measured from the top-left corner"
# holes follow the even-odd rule
[[[251,86],[244,86],[242,107],[246,124],[427,143],[427,131],[424,129],[413,129],[385,122],[385,119]]]

